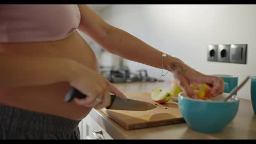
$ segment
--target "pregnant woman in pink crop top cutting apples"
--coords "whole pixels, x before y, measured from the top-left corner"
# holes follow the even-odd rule
[[[171,71],[188,95],[191,82],[223,93],[222,79],[162,57],[87,5],[0,5],[0,139],[80,139],[78,124],[92,108],[108,106],[110,92],[126,98],[100,74],[77,29],[114,55]],[[71,87],[88,97],[65,103]]]

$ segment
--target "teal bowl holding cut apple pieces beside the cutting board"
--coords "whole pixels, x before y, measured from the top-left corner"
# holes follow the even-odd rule
[[[189,127],[202,133],[218,133],[236,117],[239,99],[228,93],[212,98],[212,101],[189,98],[184,92],[178,95],[179,111]]]

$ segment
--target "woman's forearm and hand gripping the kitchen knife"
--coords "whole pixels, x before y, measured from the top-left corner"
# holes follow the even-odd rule
[[[96,109],[110,104],[109,92],[125,98],[104,76],[71,59],[0,53],[0,71],[0,89],[66,81],[88,95],[86,99],[75,100],[79,105]],[[98,97],[103,98],[102,104],[96,103]]]

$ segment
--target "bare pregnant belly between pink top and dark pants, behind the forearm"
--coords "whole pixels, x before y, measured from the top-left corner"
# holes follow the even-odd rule
[[[86,41],[75,32],[68,38],[44,43],[0,44],[1,52],[27,56],[54,56],[73,59],[99,73],[97,59]],[[40,81],[40,79],[38,80]],[[21,109],[80,120],[91,108],[65,103],[69,83],[0,89],[0,103]]]

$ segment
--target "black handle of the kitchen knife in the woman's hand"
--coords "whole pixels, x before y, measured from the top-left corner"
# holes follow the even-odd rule
[[[111,102],[110,105],[106,107],[106,109],[110,109],[111,106],[113,105],[114,101],[115,101],[115,95],[110,94],[111,96]],[[74,87],[70,88],[69,91],[67,92],[67,94],[65,95],[65,102],[69,103],[71,102],[74,98],[79,98],[79,99],[83,99],[86,98],[87,95],[79,92],[77,89],[75,89]]]

